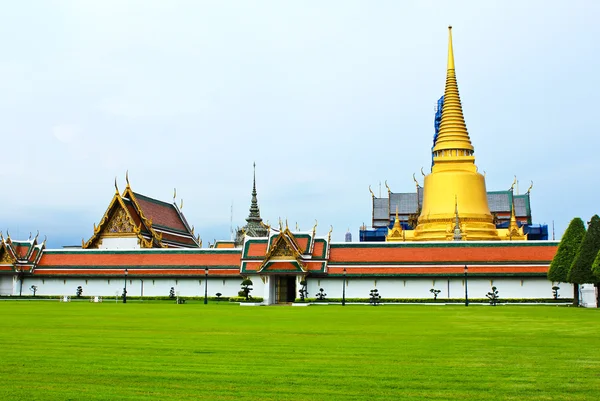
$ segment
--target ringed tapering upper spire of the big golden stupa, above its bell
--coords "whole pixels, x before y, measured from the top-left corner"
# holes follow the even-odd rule
[[[440,131],[433,148],[437,161],[452,158],[452,161],[474,161],[473,145],[467,132],[465,117],[462,111],[456,72],[454,69],[454,52],[452,50],[452,27],[448,27],[448,70],[446,72],[446,88]],[[461,157],[462,156],[462,157]],[[439,160],[442,159],[442,160]]]

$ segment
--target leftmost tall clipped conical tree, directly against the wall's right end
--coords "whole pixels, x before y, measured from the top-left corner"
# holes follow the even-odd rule
[[[581,245],[581,240],[585,235],[585,225],[580,217],[575,217],[569,223],[567,231],[560,240],[558,250],[554,259],[550,262],[548,269],[548,280],[558,283],[566,283],[569,270],[577,256],[577,251]]]

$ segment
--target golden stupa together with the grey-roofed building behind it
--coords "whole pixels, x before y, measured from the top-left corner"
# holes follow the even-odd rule
[[[526,225],[531,225],[530,191],[487,192],[484,175],[475,165],[475,148],[471,143],[458,92],[452,28],[448,29],[448,64],[444,96],[438,102],[431,173],[425,174],[423,186],[416,184],[414,193],[393,193],[385,183],[388,197],[373,201],[372,230],[361,230],[362,241],[397,237],[386,235],[391,226],[402,227],[403,241],[457,240],[525,240]],[[393,217],[394,208],[396,210]],[[394,229],[397,232],[397,228]],[[528,230],[529,231],[529,230]],[[547,231],[546,231],[547,233]],[[535,239],[547,239],[540,235]]]

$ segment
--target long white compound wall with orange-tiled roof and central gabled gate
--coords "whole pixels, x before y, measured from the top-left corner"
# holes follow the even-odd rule
[[[469,298],[484,298],[492,286],[502,298],[551,298],[557,283],[546,276],[557,246],[557,241],[332,243],[314,232],[288,229],[246,237],[239,248],[217,243],[191,249],[45,249],[29,241],[24,251],[4,240],[0,295],[31,295],[36,286],[39,296],[74,296],[81,286],[83,295],[114,297],[126,280],[128,296],[168,296],[171,287],[180,296],[203,296],[208,280],[209,296],[236,296],[248,277],[252,294],[268,304],[298,298],[303,280],[310,298],[321,288],[327,298],[341,298],[344,291],[346,298],[368,298],[375,288],[384,299],[432,298],[432,288],[440,291],[438,298],[463,298],[467,266]],[[13,253],[21,258],[11,259]],[[572,294],[570,284],[560,288]]]

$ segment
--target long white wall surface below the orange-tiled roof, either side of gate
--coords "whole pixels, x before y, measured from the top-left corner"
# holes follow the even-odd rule
[[[2,276],[1,287],[4,292],[19,294],[18,281],[13,276]],[[267,298],[273,292],[270,278],[264,283],[260,277],[251,277],[254,285],[252,295]],[[241,289],[242,279],[208,278],[208,296],[214,297],[217,292],[223,296],[236,296]],[[308,297],[315,298],[319,288],[323,288],[328,298],[342,297],[341,278],[308,278]],[[37,295],[71,295],[77,287],[83,288],[83,295],[115,296],[121,295],[125,284],[124,278],[42,278],[27,277],[23,284],[23,295],[32,295],[29,288],[36,285]],[[127,294],[129,296],[168,296],[171,287],[180,296],[204,296],[204,278],[127,278]],[[496,286],[500,298],[552,298],[552,283],[543,277],[532,278],[470,278],[467,283],[469,298],[485,298],[485,295]],[[573,286],[560,283],[559,294],[562,298],[573,297]],[[464,298],[465,285],[462,278],[430,279],[430,278],[352,278],[346,279],[346,298],[368,298],[369,292],[377,288],[382,298],[433,298],[430,289],[440,290],[438,298]],[[296,284],[296,291],[300,285]],[[299,297],[298,293],[296,297]]]

